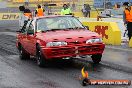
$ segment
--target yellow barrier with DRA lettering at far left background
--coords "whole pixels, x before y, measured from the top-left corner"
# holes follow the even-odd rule
[[[0,13],[0,20],[18,20],[19,13]]]

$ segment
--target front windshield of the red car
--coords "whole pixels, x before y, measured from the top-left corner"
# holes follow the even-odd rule
[[[37,20],[37,31],[82,29],[84,26],[75,17],[50,17]]]

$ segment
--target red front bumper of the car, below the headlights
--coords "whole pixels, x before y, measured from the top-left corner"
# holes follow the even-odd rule
[[[77,55],[102,54],[105,44],[78,44],[57,47],[41,47],[43,55],[47,59],[75,57]]]

